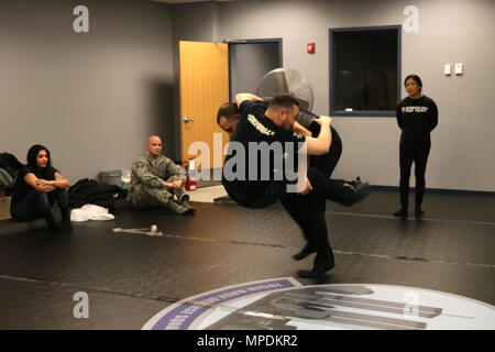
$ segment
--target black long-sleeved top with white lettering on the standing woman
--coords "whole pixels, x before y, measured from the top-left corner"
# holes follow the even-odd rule
[[[433,99],[422,96],[419,99],[409,97],[397,105],[397,124],[403,133],[400,143],[430,141],[430,132],[438,124],[438,109]]]

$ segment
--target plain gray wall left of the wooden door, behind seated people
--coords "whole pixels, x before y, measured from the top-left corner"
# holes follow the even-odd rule
[[[89,8],[89,33],[73,9]],[[70,182],[125,169],[150,134],[175,145],[169,7],[130,0],[0,2],[0,152],[47,146]],[[172,153],[175,151],[172,150]]]

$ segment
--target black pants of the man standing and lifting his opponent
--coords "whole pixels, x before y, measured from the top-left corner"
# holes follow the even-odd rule
[[[317,123],[312,124],[315,125]],[[316,178],[320,179],[321,184],[323,183],[323,178],[330,179],[333,169],[339,163],[340,155],[342,154],[342,142],[337,134],[337,131],[333,131],[330,152],[324,155],[312,156],[310,160],[308,178],[311,184],[312,182],[316,182]],[[319,131],[312,132],[314,135],[317,135]],[[330,187],[329,191],[332,191],[331,188],[334,186],[331,183],[328,183],[327,185]],[[345,187],[344,191],[348,191],[348,189],[349,188]],[[339,190],[337,189],[333,189],[333,191],[336,197],[340,197],[342,199],[346,197],[342,195],[338,196]],[[293,194],[280,200],[280,202],[293,220],[296,221],[301,228],[305,240],[307,241],[305,249],[308,252],[317,252],[314,261],[314,267],[322,271],[333,267],[333,250],[330,245],[327,220],[324,219],[327,199],[311,191],[306,196],[297,196]]]

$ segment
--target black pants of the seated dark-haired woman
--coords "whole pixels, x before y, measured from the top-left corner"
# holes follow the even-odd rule
[[[68,197],[65,189],[56,189],[48,194],[32,189],[19,204],[11,208],[10,212],[15,221],[33,221],[45,218],[50,226],[50,220],[53,219],[51,208],[55,202],[58,202],[63,221],[68,221]]]

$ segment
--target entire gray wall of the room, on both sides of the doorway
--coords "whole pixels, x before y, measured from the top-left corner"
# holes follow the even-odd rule
[[[129,168],[152,133],[178,158],[179,40],[283,37],[285,67],[311,84],[314,111],[328,113],[329,29],[403,24],[404,8],[416,6],[419,33],[403,32],[402,74],[419,74],[440,110],[427,187],[495,191],[493,0],[87,0],[88,34],[73,31],[77,4],[0,2],[0,152],[24,162],[30,145],[44,143],[72,182]],[[306,53],[307,42],[316,54]],[[464,75],[443,76],[443,64],[458,62]],[[344,143],[336,176],[397,186],[395,119],[333,121]]]

